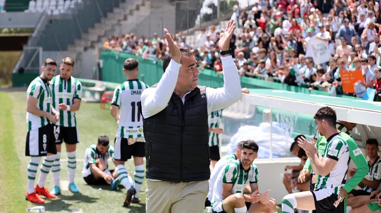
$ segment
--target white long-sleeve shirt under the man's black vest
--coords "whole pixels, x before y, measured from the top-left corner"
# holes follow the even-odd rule
[[[221,61],[224,70],[224,87],[206,88],[208,114],[224,109],[241,98],[241,83],[232,56],[221,57]],[[141,104],[144,118],[157,114],[168,105],[177,83],[180,67],[181,64],[171,60],[157,86],[142,92]],[[182,97],[183,103],[190,92]]]

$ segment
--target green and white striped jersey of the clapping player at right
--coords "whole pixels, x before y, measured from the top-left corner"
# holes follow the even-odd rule
[[[327,139],[323,152],[323,162],[330,158],[336,160],[337,163],[326,176],[317,176],[315,190],[325,187],[331,188],[334,194],[338,194],[340,188],[345,184],[346,173],[349,165],[349,147],[344,138],[339,133],[330,136]]]

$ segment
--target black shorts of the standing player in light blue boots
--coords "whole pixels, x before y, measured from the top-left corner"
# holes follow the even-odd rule
[[[65,142],[67,144],[79,143],[78,128],[75,127],[61,127],[53,125],[54,139],[56,144],[62,144]]]

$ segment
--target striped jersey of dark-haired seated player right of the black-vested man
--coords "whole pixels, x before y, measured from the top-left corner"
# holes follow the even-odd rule
[[[213,186],[213,197],[211,203],[222,202],[223,183],[232,183],[232,193],[243,194],[248,183],[258,182],[258,168],[253,163],[249,170],[243,170],[241,160],[232,161],[223,167],[219,172],[216,182]]]

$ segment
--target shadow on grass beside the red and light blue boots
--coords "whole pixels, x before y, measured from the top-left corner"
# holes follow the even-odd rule
[[[59,195],[59,199],[52,199],[51,202],[45,203],[46,211],[72,211],[69,209],[72,203],[66,203],[66,200],[77,201],[81,203],[95,203],[98,198],[89,197],[80,193],[76,193],[70,196]]]

